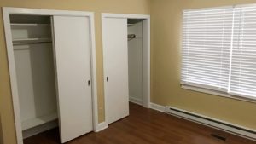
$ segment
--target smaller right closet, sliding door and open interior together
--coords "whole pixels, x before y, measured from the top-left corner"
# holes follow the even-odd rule
[[[148,107],[150,95],[149,20],[117,15],[102,16],[108,124],[129,116],[129,101]]]

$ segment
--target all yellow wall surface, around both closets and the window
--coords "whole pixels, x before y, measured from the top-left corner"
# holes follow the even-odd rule
[[[199,112],[230,123],[256,129],[256,105],[216,95],[206,95],[180,88],[180,37],[183,9],[217,7],[256,0],[1,0],[0,7],[67,9],[96,12],[96,65],[99,122],[104,121],[102,78],[101,13],[151,13],[152,102]],[[150,6],[151,5],[151,6]],[[3,140],[15,144],[15,125],[9,86],[9,72],[4,44],[3,17],[0,12],[0,113]]]

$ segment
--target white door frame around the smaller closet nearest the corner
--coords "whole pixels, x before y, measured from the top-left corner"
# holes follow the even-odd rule
[[[116,19],[144,19],[143,20],[143,107],[150,108],[150,15],[148,14],[111,14],[102,13],[102,49],[106,47],[104,27],[105,19],[116,18]],[[104,59],[103,50],[103,69],[104,69],[104,94],[106,94],[106,86],[108,84],[106,78],[106,60]],[[108,115],[107,106],[108,103],[105,97],[105,122],[108,124],[106,115]]]

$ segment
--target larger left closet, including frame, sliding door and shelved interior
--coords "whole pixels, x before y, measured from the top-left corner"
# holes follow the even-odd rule
[[[57,126],[61,143],[93,130],[91,17],[86,15],[3,9],[18,144]]]

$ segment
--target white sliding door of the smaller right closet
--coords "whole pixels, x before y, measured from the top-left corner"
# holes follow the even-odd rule
[[[129,115],[127,19],[103,19],[104,85],[108,124]]]

